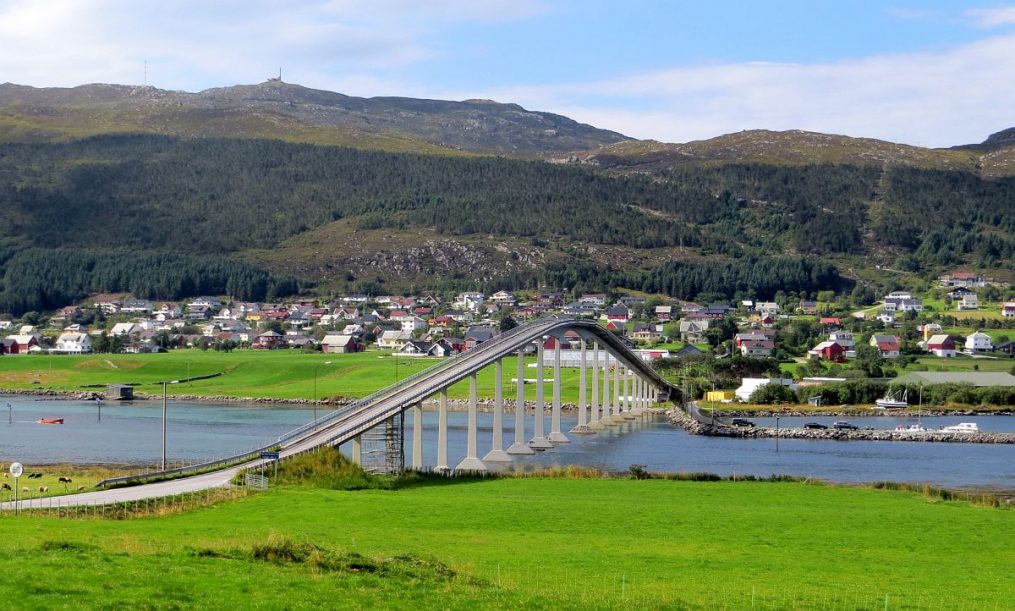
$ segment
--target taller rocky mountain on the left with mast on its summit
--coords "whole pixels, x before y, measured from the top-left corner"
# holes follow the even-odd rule
[[[22,133],[24,129],[36,128],[37,141],[47,139],[47,134],[50,139],[59,139],[82,135],[81,132],[85,135],[117,131],[189,135],[187,130],[180,129],[184,125],[192,125],[191,131],[199,134],[209,123],[215,122],[216,114],[222,112],[235,114],[238,120],[253,121],[256,126],[248,129],[253,129],[255,137],[300,141],[299,138],[286,138],[284,126],[271,125],[273,121],[281,121],[309,129],[339,130],[340,135],[358,136],[366,144],[371,136],[415,139],[428,145],[421,146],[425,149],[423,152],[435,152],[436,147],[452,151],[535,155],[589,150],[628,139],[623,134],[585,125],[561,115],[528,111],[516,104],[356,97],[279,80],[213,87],[194,93],[114,84],[36,88],[4,83],[0,85],[0,112],[6,115],[0,116],[0,127],[4,123],[8,126],[7,136],[3,137],[0,129],[0,137],[7,141],[18,139],[9,127],[17,123],[21,124]],[[186,115],[186,122],[181,121],[181,114]],[[70,118],[74,121],[69,121]],[[124,125],[118,125],[118,120]],[[238,131],[236,135],[243,137],[245,134]],[[323,143],[349,144],[348,139],[326,137]]]

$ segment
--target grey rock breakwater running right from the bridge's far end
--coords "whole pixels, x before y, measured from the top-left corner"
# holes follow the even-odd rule
[[[691,434],[713,437],[826,439],[838,442],[925,442],[938,444],[1015,444],[1013,432],[947,432],[886,429],[839,430],[834,428],[780,428],[769,426],[726,426],[698,422],[683,410],[669,413],[670,421]]]

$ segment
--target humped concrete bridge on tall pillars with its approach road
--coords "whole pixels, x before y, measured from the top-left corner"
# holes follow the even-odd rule
[[[579,411],[578,424],[569,431],[561,430],[560,424],[560,344],[577,334],[581,340],[579,358]],[[545,396],[546,367],[544,344],[548,338],[552,342],[552,396],[549,402]],[[532,419],[532,436],[526,433],[525,413],[525,354],[535,344],[537,350],[535,414]],[[518,372],[515,389],[515,438],[503,448],[504,389],[502,359],[518,354]],[[493,434],[489,451],[479,454],[477,430],[477,374],[492,366],[495,369],[493,398]],[[466,456],[456,465],[448,460],[448,389],[453,385],[469,381],[468,398],[468,442]],[[505,463],[513,456],[534,454],[569,442],[570,434],[593,434],[597,429],[615,426],[619,422],[642,417],[647,409],[659,401],[674,399],[679,391],[663,380],[640,356],[632,352],[615,335],[595,322],[571,318],[550,317],[527,325],[516,327],[476,348],[448,358],[438,364],[419,371],[409,378],[364,397],[350,406],[336,410],[315,422],[308,423],[281,435],[277,443],[256,449],[250,453],[182,469],[163,472],[176,476],[174,481],[137,485],[99,492],[70,495],[60,499],[43,498],[33,501],[38,506],[57,502],[109,503],[137,500],[152,496],[178,494],[225,485],[242,469],[258,468],[265,461],[260,455],[265,451],[278,452],[280,459],[310,452],[322,446],[339,446],[351,443],[351,459],[362,464],[362,439],[364,433],[395,418],[406,411],[413,414],[412,457],[409,467],[423,467],[422,456],[422,403],[436,397],[437,455],[432,466],[438,471],[483,471],[487,463]],[[546,412],[549,411],[549,430],[546,430]],[[527,438],[528,437],[528,438]],[[397,440],[399,449],[402,440]],[[401,468],[403,465],[398,465]],[[127,476],[100,482],[104,485],[129,485],[149,479],[159,474]],[[4,503],[0,508],[10,508]],[[24,506],[24,505],[22,505]]]

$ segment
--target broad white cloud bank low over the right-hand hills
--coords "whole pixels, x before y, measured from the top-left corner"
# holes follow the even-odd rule
[[[1012,74],[1015,36],[1006,36],[940,53],[682,67],[473,95],[670,142],[765,128],[951,146],[1015,125]]]

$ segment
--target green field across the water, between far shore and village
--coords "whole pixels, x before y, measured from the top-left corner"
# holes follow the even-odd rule
[[[170,385],[167,392],[205,397],[358,398],[439,361],[396,357],[382,351],[321,354],[293,350],[234,350],[229,353],[174,350],[162,354],[23,355],[0,358],[0,388],[82,391],[89,387],[93,387],[90,390],[103,390],[108,384],[138,384],[136,392],[160,396],[161,381],[221,374],[207,380]],[[535,358],[527,362],[535,363]],[[515,396],[512,380],[517,376],[517,363],[515,357],[503,359],[505,397]],[[550,368],[546,369],[547,379],[551,372]],[[577,401],[578,370],[564,368],[561,375],[561,397],[565,402]],[[535,368],[526,367],[525,377],[534,379]],[[490,366],[480,371],[477,383],[481,396],[492,397],[494,368]],[[547,386],[547,401],[550,389]],[[529,399],[534,399],[535,388],[530,386],[527,394]],[[450,395],[467,397],[468,382],[453,387]]]

